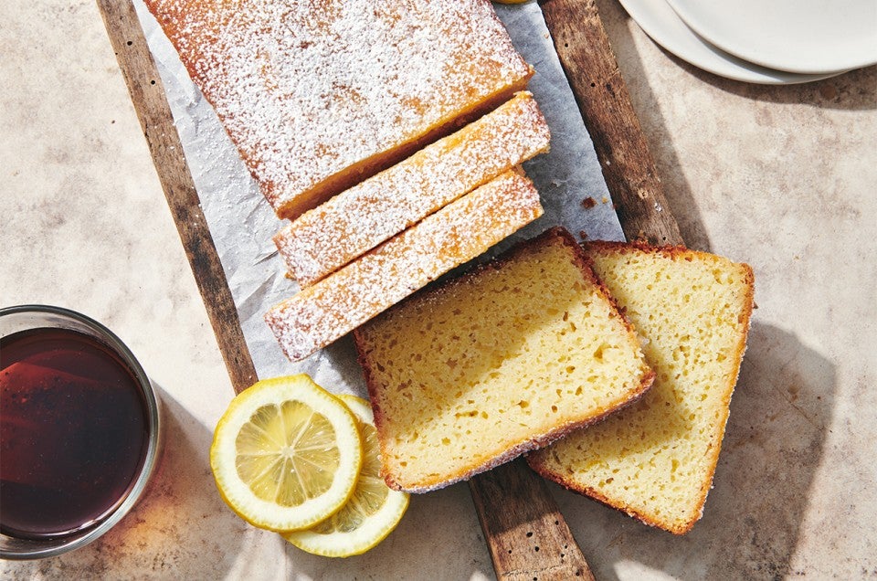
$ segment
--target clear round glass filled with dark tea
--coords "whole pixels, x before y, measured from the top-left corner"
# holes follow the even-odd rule
[[[60,555],[119,523],[156,469],[162,434],[128,347],[68,309],[0,309],[0,396],[0,558]]]

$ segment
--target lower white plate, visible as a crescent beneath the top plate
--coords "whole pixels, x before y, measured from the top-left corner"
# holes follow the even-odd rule
[[[736,58],[694,34],[665,0],[619,0],[619,2],[643,32],[661,47],[695,67],[715,75],[766,85],[803,83],[830,76],[798,75],[766,69]]]

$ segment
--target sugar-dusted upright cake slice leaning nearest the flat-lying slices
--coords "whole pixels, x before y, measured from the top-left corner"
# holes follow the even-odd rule
[[[265,320],[283,352],[300,361],[542,212],[533,183],[506,172],[272,307]]]

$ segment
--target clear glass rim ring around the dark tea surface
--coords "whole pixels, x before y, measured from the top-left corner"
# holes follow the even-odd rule
[[[137,386],[140,388],[143,401],[146,405],[148,441],[147,448],[143,458],[143,465],[137,472],[137,476],[132,486],[125,492],[114,509],[104,518],[104,520],[83,531],[70,533],[69,535],[46,541],[14,539],[14,546],[6,546],[6,541],[13,537],[0,534],[0,559],[8,560],[30,560],[52,557],[73,551],[80,547],[90,544],[100,538],[104,533],[109,531],[116,523],[131,511],[134,504],[140,500],[147,484],[149,483],[153,472],[155,471],[159,453],[161,450],[161,409],[159,399],[153,388],[149,376],[143,371],[143,366],[137,361],[128,346],[122,340],[112,333],[102,323],[84,315],[80,312],[72,311],[65,307],[58,307],[47,304],[21,304],[10,307],[0,308],[0,323],[6,317],[14,315],[50,315],[67,319],[87,328],[94,333],[94,337],[105,343],[115,354],[122,358],[122,361],[129,366],[132,375],[136,379]],[[57,328],[57,324],[34,324],[26,328]],[[16,329],[17,331],[18,329]],[[5,330],[0,324],[0,336],[5,336]],[[20,545],[19,545],[20,544]]]

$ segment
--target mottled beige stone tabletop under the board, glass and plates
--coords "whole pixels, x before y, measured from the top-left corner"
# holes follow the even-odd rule
[[[877,69],[719,79],[598,5],[683,236],[750,263],[759,308],[692,533],[552,490],[599,579],[877,577]],[[0,576],[491,578],[465,485],[417,497],[385,544],[343,561],[225,509],[207,449],[231,386],[98,9],[7,2],[0,22],[0,305],[108,324],[167,420],[162,468],[119,527]]]

